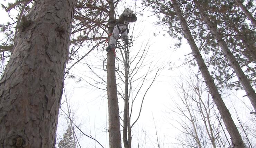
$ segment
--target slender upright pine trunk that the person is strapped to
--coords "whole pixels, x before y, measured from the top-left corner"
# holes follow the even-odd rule
[[[109,20],[115,19],[115,8],[113,0],[109,0]],[[109,24],[108,31],[112,33],[114,24]],[[107,91],[108,91],[108,115],[109,115],[109,147],[121,148],[121,133],[119,108],[117,98],[115,54],[113,51],[107,53]]]

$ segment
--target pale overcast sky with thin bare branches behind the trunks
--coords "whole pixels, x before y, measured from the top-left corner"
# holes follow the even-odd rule
[[[205,129],[210,127],[205,127],[204,121],[211,122],[213,137],[218,141],[216,142],[217,147],[229,147],[232,142],[228,132],[211,99],[182,29],[177,25],[179,23],[174,17],[175,13],[171,7],[168,8],[168,2],[139,0],[116,2],[116,18],[125,8],[133,10],[138,18],[129,26],[129,35],[133,40],[133,46],[128,49],[129,57],[133,61],[130,68],[135,67],[134,72],[136,72],[132,83],[130,83],[132,85],[129,87],[133,91],[133,96],[136,96],[136,101],[130,107],[133,110],[131,121],[136,121],[131,130],[132,147],[199,147],[200,145],[201,147],[211,147],[212,141]],[[185,5],[183,2],[179,1],[179,4]],[[17,22],[22,20],[22,15],[28,14],[33,1],[22,1],[6,12],[6,8],[12,3],[15,1],[2,2],[3,9],[0,11],[3,17],[0,43],[2,48],[1,74],[11,55],[10,50],[5,50],[8,48],[3,47],[13,45],[15,37],[18,36],[18,33],[16,34]],[[99,143],[103,147],[109,146],[107,73],[104,71],[106,69],[104,59],[107,57],[107,53],[104,51],[107,44],[104,41],[108,36],[104,29],[102,31],[99,29],[100,27],[94,26],[97,21],[103,21],[102,24],[106,25],[108,19],[99,20],[106,16],[94,19],[92,19],[93,16],[88,16],[91,14],[88,9],[92,9],[93,6],[103,7],[104,5],[101,3],[107,6],[105,1],[79,1],[77,4],[77,14],[74,17],[76,21],[73,22],[74,28],[71,36],[70,60],[66,65],[64,92],[58,118],[56,147],[63,147],[63,141],[65,141],[63,139],[67,139],[63,136],[70,126],[73,129],[70,136],[75,139],[73,139],[75,144],[72,140],[69,142],[73,147],[101,147]],[[226,43],[233,49],[232,53],[236,55],[237,61],[255,90],[255,59],[244,52],[246,47],[242,45],[241,39],[236,38],[238,35],[234,32],[234,28],[230,29],[230,22],[223,22],[223,16],[220,14],[227,14],[227,16],[238,20],[238,29],[247,33],[249,39],[246,41],[254,49],[255,26],[234,2],[221,1],[214,4],[216,12],[211,15],[216,16],[218,27],[225,30],[223,33],[225,33]],[[255,16],[254,1],[244,1],[244,5],[252,13],[252,16]],[[183,9],[184,13],[186,8],[188,7]],[[211,8],[214,7],[211,6]],[[170,11],[166,12],[165,10]],[[20,15],[21,11],[22,15]],[[210,31],[205,28],[193,27],[193,23],[198,22],[193,22],[192,18],[196,16],[193,16],[192,12],[189,13],[186,13],[185,16],[191,20],[191,30],[194,29],[191,32],[195,40],[198,38],[197,44],[222,99],[241,133],[245,145],[255,147],[256,124],[252,104],[245,96],[246,93],[228,64],[228,60],[219,52],[220,47],[213,41]],[[83,22],[88,21],[92,24],[83,24],[81,23],[82,19],[85,19]],[[227,18],[226,20],[228,21]],[[91,31],[86,29],[91,29]],[[206,33],[200,32],[202,30]],[[2,52],[3,50],[4,52]],[[116,67],[119,67],[117,84],[120,92],[124,90],[122,83],[124,68],[121,62],[121,53],[121,50],[117,49],[116,54],[120,62],[116,62]],[[143,87],[140,88],[140,86]],[[122,100],[122,95],[119,95],[121,119],[125,106]],[[203,109],[202,102],[204,105],[208,105],[205,110],[200,110]],[[68,114],[72,118],[72,122],[67,118]],[[204,114],[208,114],[209,119],[205,120]],[[138,116],[139,118],[136,120]],[[122,120],[120,121],[122,122]],[[122,125],[123,123],[121,123],[121,129]],[[75,136],[73,136],[73,132]],[[225,140],[221,141],[223,137]]]

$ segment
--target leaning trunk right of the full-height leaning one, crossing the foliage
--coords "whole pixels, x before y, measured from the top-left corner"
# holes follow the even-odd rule
[[[229,64],[232,66],[232,68],[234,69],[239,82],[242,84],[242,86],[244,87],[244,90],[246,92],[246,95],[248,96],[248,98],[250,99],[250,102],[253,105],[253,108],[256,112],[256,93],[252,87],[252,85],[250,85],[250,81],[247,79],[246,75],[244,74],[243,70],[241,69],[241,67],[239,66],[239,63],[236,61],[236,58],[234,57],[234,55],[230,52],[227,44],[225,43],[225,41],[222,39],[222,35],[221,33],[217,30],[217,26],[214,25],[214,23],[210,20],[210,18],[206,15],[206,13],[204,12],[204,10],[202,9],[202,7],[199,4],[198,0],[194,0],[196,7],[198,7],[198,10],[202,16],[202,19],[206,22],[206,24],[209,26],[209,29],[211,30],[214,38],[218,41],[219,46],[221,47],[222,52],[225,54],[225,56],[227,57]]]

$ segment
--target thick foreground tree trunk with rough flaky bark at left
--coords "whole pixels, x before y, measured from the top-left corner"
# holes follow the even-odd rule
[[[0,81],[0,147],[55,147],[76,0],[35,0]]]

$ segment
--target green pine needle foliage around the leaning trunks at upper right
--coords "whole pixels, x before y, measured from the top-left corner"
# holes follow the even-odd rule
[[[153,9],[157,14],[158,25],[166,25],[167,32],[170,36],[177,38],[179,42],[177,47],[181,45],[181,39],[184,36],[177,16],[174,13],[172,4],[167,0],[147,0],[143,1]],[[221,52],[217,41],[212,36],[208,26],[202,21],[200,13],[194,5],[193,1],[178,0],[183,11],[183,17],[188,22],[189,29],[200,47],[201,53],[204,54],[205,63],[208,64],[212,76],[218,82],[219,87],[227,86],[235,89],[241,89],[241,85],[232,67],[228,63],[225,55]],[[256,84],[255,73],[255,52],[256,52],[256,33],[255,27],[248,22],[244,12],[239,9],[234,1],[201,1],[205,13],[215,23],[219,32],[224,35],[224,40],[231,50],[232,54],[240,64],[242,70],[248,77],[253,86]],[[250,12],[255,12],[255,4],[249,0],[246,8]],[[184,36],[184,38],[186,38]],[[194,61],[189,59],[192,65]]]

